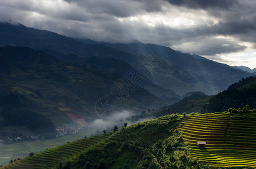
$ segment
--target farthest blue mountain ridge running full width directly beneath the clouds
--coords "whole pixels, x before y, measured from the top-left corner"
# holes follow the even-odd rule
[[[214,95],[242,77],[253,75],[198,55],[183,54],[170,47],[154,44],[99,43],[88,39],[67,38],[53,32],[27,28],[21,24],[15,26],[7,23],[0,24],[0,35],[0,46],[12,45],[44,51],[54,50],[71,57],[74,56],[76,63],[80,62],[80,58],[96,56],[100,59],[113,58],[125,61],[134,66],[150,51],[160,65],[152,68],[151,73],[147,74],[147,78],[158,86],[168,88],[180,96],[192,91],[202,91],[207,95]],[[98,63],[93,64],[97,66]],[[110,67],[114,63],[108,64],[107,67]],[[124,63],[118,64],[119,67],[123,67]],[[128,72],[128,69],[123,69],[123,71]]]

